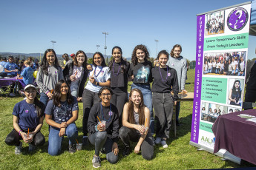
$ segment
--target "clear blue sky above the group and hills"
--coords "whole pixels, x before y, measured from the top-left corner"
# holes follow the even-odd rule
[[[44,0],[0,2],[0,52],[35,53],[52,48],[57,54],[78,50],[107,55],[114,46],[130,58],[137,44],[145,44],[151,57],[160,50],[171,50],[181,44],[181,55],[195,60],[196,15],[229,7],[245,0]],[[249,37],[249,58],[255,55],[256,37]]]

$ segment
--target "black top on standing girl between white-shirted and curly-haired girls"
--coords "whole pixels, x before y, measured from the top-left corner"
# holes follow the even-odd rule
[[[122,65],[124,70],[122,71],[121,62],[115,63],[113,65],[109,65],[111,68],[111,88],[112,87],[124,87],[123,89],[127,89],[128,86],[128,71],[130,69],[130,63],[127,61],[122,61]]]

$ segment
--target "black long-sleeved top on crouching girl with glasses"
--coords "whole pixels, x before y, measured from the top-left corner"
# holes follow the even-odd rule
[[[103,114],[102,114],[103,112]],[[99,119],[97,118],[99,117]],[[110,106],[105,107],[102,106],[102,103],[96,103],[91,108],[88,118],[88,131],[93,134],[96,132],[95,126],[99,123],[99,120],[106,121],[106,132],[108,137],[114,140],[114,142],[118,141],[118,132],[119,132],[119,116],[118,110],[116,106],[111,104]]]

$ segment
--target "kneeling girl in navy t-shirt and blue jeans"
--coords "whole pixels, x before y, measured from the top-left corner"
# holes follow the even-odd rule
[[[70,88],[65,80],[60,80],[55,86],[53,100],[45,108],[45,120],[50,125],[48,153],[57,155],[62,151],[63,136],[69,140],[69,152],[76,152],[78,136],[75,121],[78,118],[76,98],[70,94]]]

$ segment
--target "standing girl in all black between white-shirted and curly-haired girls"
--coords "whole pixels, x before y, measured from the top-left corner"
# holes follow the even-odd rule
[[[113,103],[119,112],[119,123],[122,124],[122,109],[128,101],[128,71],[130,63],[122,58],[122,49],[120,47],[113,47],[113,59],[109,62],[108,67],[111,70],[111,89],[113,96],[111,103]]]

